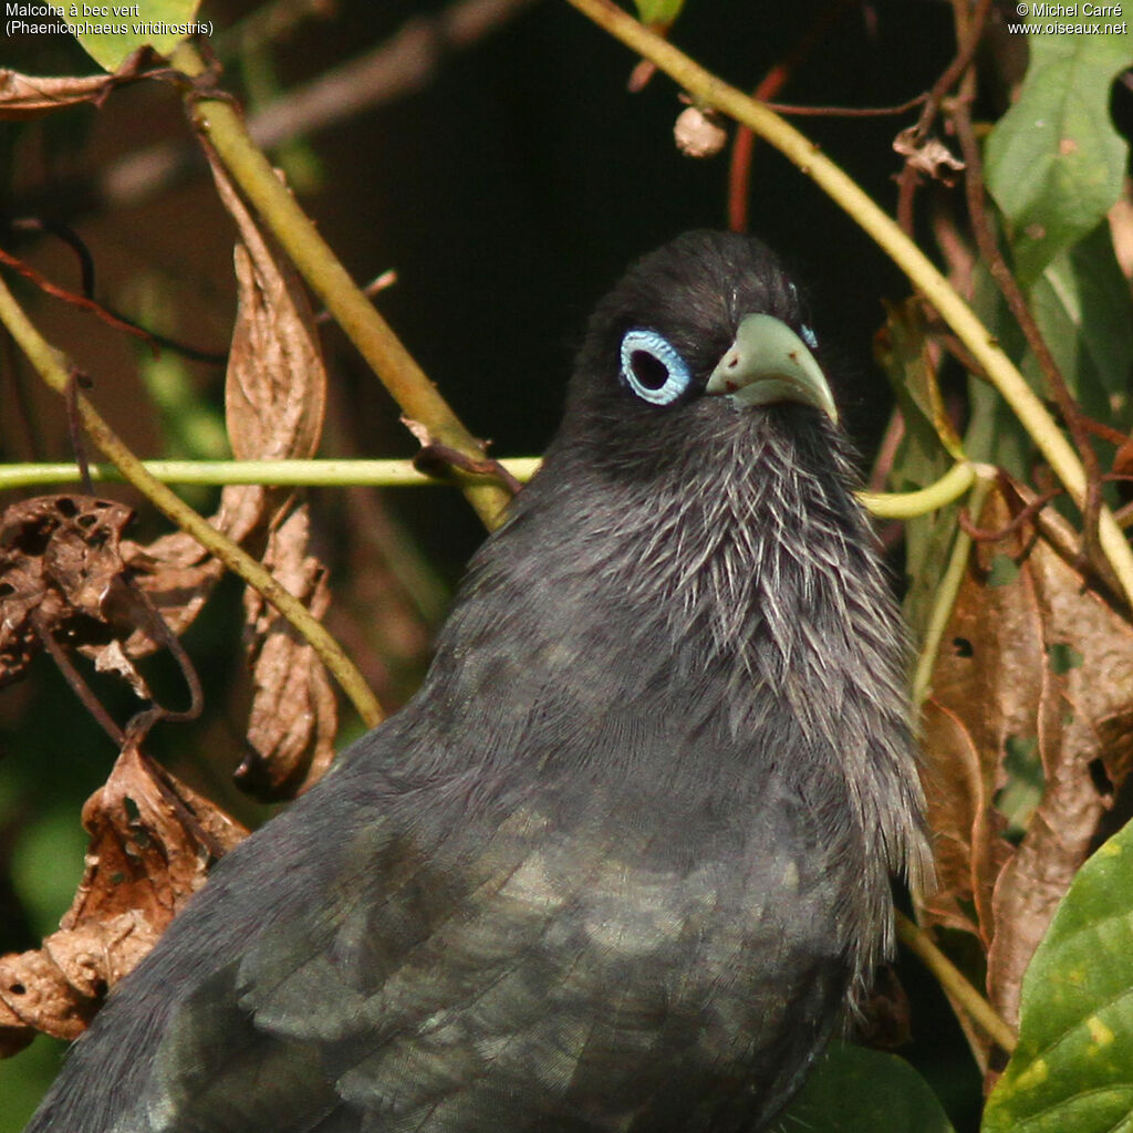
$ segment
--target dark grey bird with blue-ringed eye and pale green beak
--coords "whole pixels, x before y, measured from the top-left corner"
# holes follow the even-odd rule
[[[216,864],[27,1133],[766,1128],[928,860],[828,352],[753,237],[637,261],[417,695]]]

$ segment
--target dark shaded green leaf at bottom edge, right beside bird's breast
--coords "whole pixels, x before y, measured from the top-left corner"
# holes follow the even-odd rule
[[[896,1055],[832,1042],[776,1128],[954,1133],[928,1083]]]

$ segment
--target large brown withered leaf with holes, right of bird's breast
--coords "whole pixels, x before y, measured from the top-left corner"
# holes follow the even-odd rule
[[[980,527],[1002,530],[1021,506],[996,489]],[[1010,1022],[1023,971],[1128,775],[1131,717],[1133,627],[1033,526],[978,544],[925,708],[940,883],[927,914],[980,939],[991,1000]]]

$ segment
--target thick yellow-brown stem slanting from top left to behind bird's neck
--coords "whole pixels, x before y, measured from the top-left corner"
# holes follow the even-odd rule
[[[173,52],[172,63],[194,78],[206,71],[197,49],[188,42]],[[191,114],[197,129],[208,139],[299,274],[382,380],[406,417],[421,426],[433,442],[483,459],[484,451],[476,438],[374,304],[355,286],[330,245],[275,176],[271,163],[248,136],[239,111],[230,102],[204,96],[194,99]],[[497,526],[511,499],[508,489],[487,477],[467,476],[457,470],[453,477],[485,526],[489,529]]]

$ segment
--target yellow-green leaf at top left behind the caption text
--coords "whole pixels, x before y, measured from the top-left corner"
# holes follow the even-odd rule
[[[70,25],[71,34],[100,67],[116,71],[127,56],[150,44],[159,54],[168,56],[190,35],[212,34],[212,24],[196,20],[201,0],[69,0],[59,2],[59,11]]]

